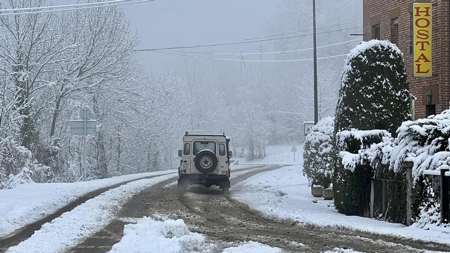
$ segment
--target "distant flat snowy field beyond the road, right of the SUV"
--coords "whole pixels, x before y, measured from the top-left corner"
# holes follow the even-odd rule
[[[239,159],[239,164],[285,164],[285,165],[299,165],[302,163],[302,153],[303,146],[295,145],[297,151],[295,152],[295,161],[294,161],[294,152],[291,151],[292,146],[294,145],[280,145],[280,146],[267,146],[266,148],[266,157],[264,159],[257,160],[246,160],[246,158],[237,158]]]

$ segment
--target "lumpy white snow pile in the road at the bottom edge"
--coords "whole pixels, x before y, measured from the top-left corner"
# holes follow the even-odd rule
[[[123,232],[110,253],[217,252],[216,245],[207,243],[205,236],[190,232],[181,219],[156,221],[144,217],[136,224],[125,225]]]

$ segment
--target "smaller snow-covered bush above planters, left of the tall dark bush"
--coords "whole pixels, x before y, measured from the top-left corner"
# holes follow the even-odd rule
[[[321,119],[310,128],[303,146],[303,175],[314,185],[328,188],[333,175],[334,117]]]

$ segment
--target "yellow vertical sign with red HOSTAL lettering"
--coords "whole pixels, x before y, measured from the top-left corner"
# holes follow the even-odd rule
[[[431,3],[413,4],[413,66],[415,77],[431,77]]]

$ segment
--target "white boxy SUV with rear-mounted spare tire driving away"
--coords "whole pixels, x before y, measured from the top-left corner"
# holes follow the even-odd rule
[[[178,150],[178,194],[189,185],[213,185],[228,195],[230,188],[230,139],[225,134],[188,133],[183,136],[183,149]]]

